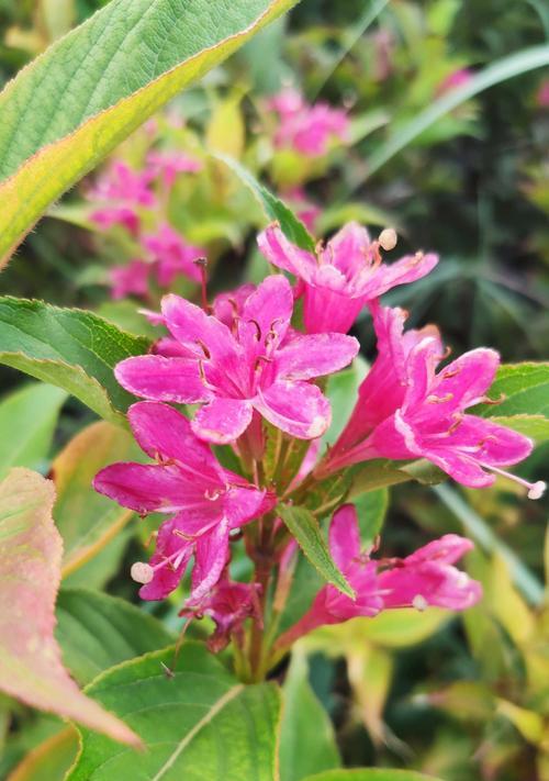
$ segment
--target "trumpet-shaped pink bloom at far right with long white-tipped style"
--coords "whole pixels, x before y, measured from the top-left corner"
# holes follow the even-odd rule
[[[320,472],[371,458],[426,458],[470,488],[491,486],[502,467],[522,461],[528,437],[467,414],[486,397],[500,364],[492,349],[473,349],[437,371],[446,357],[433,326],[404,333],[402,310],[374,308],[378,358],[359,391],[349,423]],[[530,484],[531,499],[544,483]]]

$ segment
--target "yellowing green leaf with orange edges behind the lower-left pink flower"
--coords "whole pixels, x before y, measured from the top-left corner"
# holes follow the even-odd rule
[[[103,421],[79,432],[54,460],[64,578],[97,556],[132,518],[131,510],[97,493],[92,480],[109,464],[135,460],[144,458],[132,435]]]

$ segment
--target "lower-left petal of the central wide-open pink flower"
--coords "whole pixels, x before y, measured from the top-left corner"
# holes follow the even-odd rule
[[[240,399],[214,399],[202,406],[191,423],[201,439],[226,445],[238,439],[251,422],[251,402]]]

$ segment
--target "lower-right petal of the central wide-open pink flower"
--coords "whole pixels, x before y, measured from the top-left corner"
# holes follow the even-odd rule
[[[299,439],[315,439],[330,424],[329,401],[307,382],[279,380],[258,392],[254,406],[269,423]]]

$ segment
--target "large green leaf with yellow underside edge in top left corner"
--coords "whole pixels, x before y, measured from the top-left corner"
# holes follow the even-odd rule
[[[295,1],[112,0],[24,68],[0,94],[3,261],[49,203]]]

